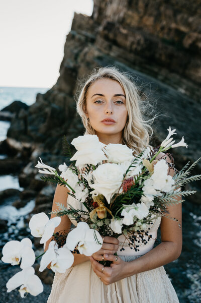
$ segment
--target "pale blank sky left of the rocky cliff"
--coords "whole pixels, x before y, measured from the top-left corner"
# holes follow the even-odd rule
[[[0,86],[52,87],[74,12],[92,0],[0,0]]]

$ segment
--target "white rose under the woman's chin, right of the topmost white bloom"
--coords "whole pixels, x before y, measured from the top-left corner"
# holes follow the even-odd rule
[[[133,150],[127,145],[110,143],[105,147],[105,152],[109,162],[131,162],[133,159]]]

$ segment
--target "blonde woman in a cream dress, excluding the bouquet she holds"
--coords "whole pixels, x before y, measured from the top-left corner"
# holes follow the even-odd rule
[[[136,154],[148,146],[149,134],[152,132],[148,124],[151,120],[145,122],[143,119],[144,109],[135,84],[126,73],[121,73],[114,67],[94,70],[77,100],[77,111],[86,134],[96,134],[99,141],[106,145],[126,144]],[[161,153],[157,158],[164,156]],[[165,156],[165,159],[171,162],[169,157]],[[169,174],[174,174],[172,168],[169,169]],[[58,185],[52,210],[57,209],[56,202],[66,205],[67,198],[69,200],[70,197],[67,188]],[[168,207],[168,211],[169,217],[176,217],[181,224],[181,203]],[[76,225],[75,221],[72,222]],[[55,274],[47,303],[178,302],[163,265],[180,256],[182,231],[176,221],[162,217],[151,226],[150,233],[154,237],[159,225],[161,243],[155,248],[154,243],[142,245],[136,253],[125,243],[122,251],[120,244],[122,245],[123,235],[119,239],[105,236],[102,248],[92,256],[75,254],[72,267],[64,274]],[[63,216],[55,232],[70,226],[70,219]],[[114,255],[116,252],[118,257]],[[97,262],[101,260],[113,263],[110,267],[104,267]]]

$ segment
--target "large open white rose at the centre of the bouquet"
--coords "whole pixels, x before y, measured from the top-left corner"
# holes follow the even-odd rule
[[[124,170],[115,163],[104,163],[99,165],[92,173],[94,184],[89,186],[94,189],[92,193],[104,195],[110,204],[111,197],[118,192],[122,185]]]

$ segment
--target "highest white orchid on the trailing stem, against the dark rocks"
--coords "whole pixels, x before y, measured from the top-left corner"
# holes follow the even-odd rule
[[[61,217],[54,217],[49,220],[48,216],[44,212],[41,212],[33,215],[29,221],[29,228],[34,237],[41,237],[40,244],[44,244],[45,248],[46,241],[51,238],[55,227],[57,227],[60,222]]]

